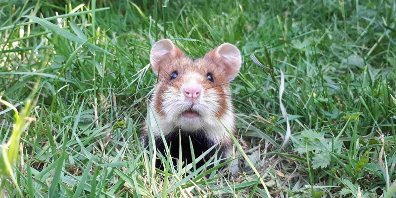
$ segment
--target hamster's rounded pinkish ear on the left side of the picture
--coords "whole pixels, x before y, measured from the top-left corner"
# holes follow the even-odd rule
[[[184,52],[176,47],[169,39],[157,41],[150,51],[151,69],[155,74],[158,74],[160,67],[166,67],[164,61],[175,57],[184,56]]]

